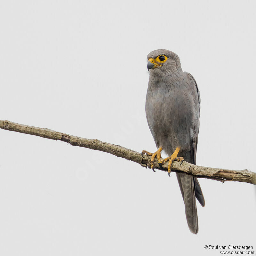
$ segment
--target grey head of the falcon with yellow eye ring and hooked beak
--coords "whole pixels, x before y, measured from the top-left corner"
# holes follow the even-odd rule
[[[174,52],[159,49],[148,53],[148,71],[150,73],[173,73],[182,71],[180,58]]]

